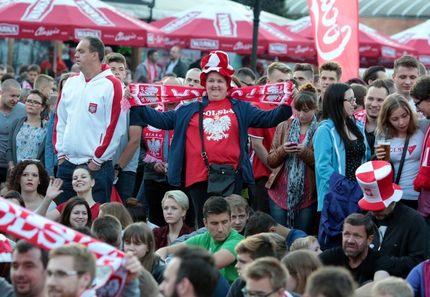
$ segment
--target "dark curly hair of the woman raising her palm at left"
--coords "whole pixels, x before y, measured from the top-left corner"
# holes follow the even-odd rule
[[[31,164],[36,165],[37,169],[39,170],[40,184],[37,186],[37,193],[42,196],[45,196],[46,189],[48,189],[49,186],[49,174],[48,171],[46,171],[45,166],[43,166],[43,164],[39,160],[23,160],[16,164],[14,169],[12,169],[11,173],[9,174],[8,190],[21,193],[22,172],[24,171],[25,167]]]

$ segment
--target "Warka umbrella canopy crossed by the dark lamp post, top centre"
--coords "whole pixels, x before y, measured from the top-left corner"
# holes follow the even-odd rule
[[[166,47],[251,54],[253,13],[243,5],[214,0],[151,23],[166,34]],[[309,56],[313,42],[283,31],[260,17],[257,53]]]

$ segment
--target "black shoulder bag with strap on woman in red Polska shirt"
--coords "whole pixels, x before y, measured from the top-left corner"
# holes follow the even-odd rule
[[[201,138],[201,157],[207,168],[207,195],[229,196],[234,193],[236,173],[242,166],[241,158],[235,169],[232,165],[209,164],[203,142],[203,103],[199,107],[199,130]]]

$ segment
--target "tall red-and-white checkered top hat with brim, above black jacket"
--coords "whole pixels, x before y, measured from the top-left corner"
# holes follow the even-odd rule
[[[364,194],[358,206],[364,210],[380,211],[402,198],[403,190],[393,183],[393,169],[389,162],[366,162],[357,168],[355,176]]]

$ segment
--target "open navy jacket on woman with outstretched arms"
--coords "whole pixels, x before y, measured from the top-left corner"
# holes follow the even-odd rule
[[[287,120],[291,114],[291,107],[287,105],[278,106],[272,110],[262,110],[251,105],[247,101],[229,98],[232,102],[233,110],[236,113],[239,124],[240,140],[240,157],[244,156],[242,165],[243,182],[247,184],[254,183],[252,166],[249,157],[245,152],[246,140],[248,138],[248,128],[272,128],[279,123]],[[203,106],[209,104],[207,97],[202,99]],[[163,130],[175,130],[172,144],[169,151],[169,170],[168,180],[173,186],[179,186],[184,181],[181,176],[185,176],[184,156],[185,156],[185,139],[188,123],[194,113],[199,110],[200,101],[194,101],[181,105],[176,110],[159,112],[148,106],[133,107],[136,114],[141,120],[152,127]],[[199,133],[198,130],[195,133]],[[201,158],[200,155],[195,156]],[[238,160],[239,162],[239,160]]]

